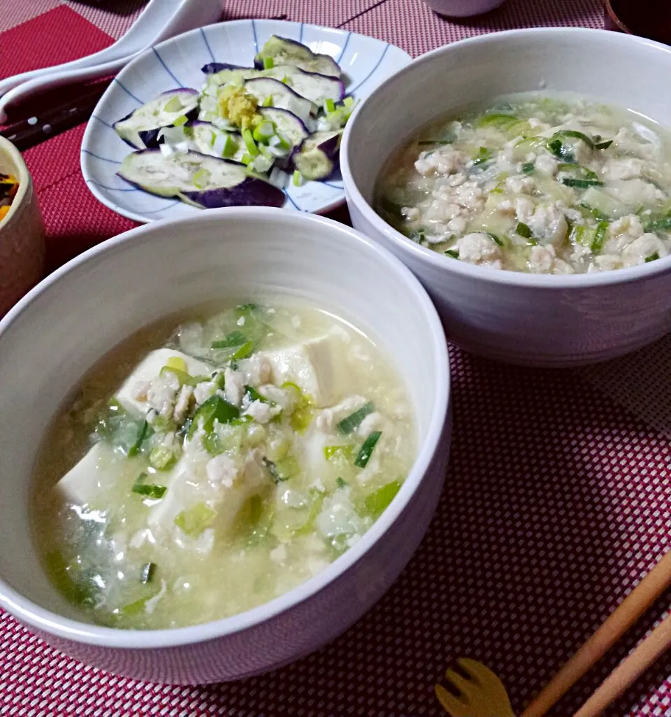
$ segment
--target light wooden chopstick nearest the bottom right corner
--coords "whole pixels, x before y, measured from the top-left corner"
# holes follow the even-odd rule
[[[597,717],[630,687],[662,652],[671,647],[671,615],[660,622],[636,649],[622,660],[574,717]]]

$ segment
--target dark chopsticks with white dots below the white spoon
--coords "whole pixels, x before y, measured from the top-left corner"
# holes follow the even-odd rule
[[[0,136],[8,139],[19,151],[24,151],[72,129],[90,118],[107,85],[109,80],[97,82],[67,103],[7,126],[0,131]]]

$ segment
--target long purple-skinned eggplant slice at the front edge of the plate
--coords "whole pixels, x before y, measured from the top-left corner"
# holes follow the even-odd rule
[[[132,152],[117,174],[150,194],[176,196],[203,209],[284,205],[284,192],[243,164],[199,152]]]

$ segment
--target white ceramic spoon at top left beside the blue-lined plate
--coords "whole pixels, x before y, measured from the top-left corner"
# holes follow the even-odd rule
[[[0,123],[7,105],[45,87],[91,80],[118,72],[136,54],[182,32],[216,22],[221,0],[150,0],[126,34],[110,47],[55,67],[21,72],[0,81]]]

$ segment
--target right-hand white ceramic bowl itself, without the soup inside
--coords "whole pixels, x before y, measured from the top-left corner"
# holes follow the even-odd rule
[[[572,276],[477,267],[406,239],[370,202],[382,166],[404,138],[463,105],[510,92],[572,91],[670,125],[670,77],[671,47],[602,30],[513,30],[425,54],[349,120],[341,166],[352,223],[415,272],[448,338],[469,351],[518,364],[571,366],[645,346],[671,328],[671,257]]]

